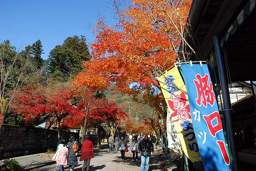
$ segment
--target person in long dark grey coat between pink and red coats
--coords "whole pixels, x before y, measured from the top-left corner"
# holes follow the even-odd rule
[[[72,146],[75,144],[74,136],[70,136],[68,141],[69,154],[68,154],[68,167],[69,171],[74,171],[75,166],[78,164],[76,152],[73,150]],[[78,143],[76,141],[77,147]]]

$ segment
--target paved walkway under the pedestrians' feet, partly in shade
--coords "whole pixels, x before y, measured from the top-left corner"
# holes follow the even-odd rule
[[[161,162],[161,158],[163,158],[163,154],[160,154],[161,150],[157,149],[152,157],[150,157],[150,167],[149,170],[164,170],[163,162]],[[39,154],[23,156],[15,158],[17,162],[21,164],[21,166],[25,170],[54,170],[56,167],[56,162],[52,162],[51,160],[44,160],[39,157]],[[161,156],[161,157],[160,157]],[[126,160],[122,161],[120,151],[109,151],[108,149],[100,149],[95,151],[95,157],[90,162],[90,170],[110,170],[110,171],[118,171],[118,170],[129,170],[135,171],[140,170],[140,157],[138,162],[132,162],[132,153],[129,151],[125,153]],[[168,156],[166,156],[168,157]],[[79,157],[78,157],[79,160]],[[77,167],[74,171],[80,171],[83,162],[78,162]],[[172,170],[176,168],[174,164],[168,162],[168,170]],[[65,170],[68,170],[67,167]]]

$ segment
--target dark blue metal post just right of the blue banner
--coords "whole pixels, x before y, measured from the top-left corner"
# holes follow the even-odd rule
[[[222,58],[221,45],[219,38],[215,35],[213,36],[213,43],[216,53],[217,65],[218,65],[218,74],[220,77],[220,84],[222,90],[222,99],[223,99],[223,113],[225,115],[225,124],[227,128],[227,139],[228,139],[228,148],[230,149],[230,159],[232,170],[239,170],[239,160],[237,157],[235,137],[233,131],[232,123],[232,111],[231,111],[231,102],[230,102],[230,93],[228,90],[227,75],[225,72],[225,64]]]

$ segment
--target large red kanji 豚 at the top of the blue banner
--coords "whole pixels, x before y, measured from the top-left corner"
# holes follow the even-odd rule
[[[216,97],[213,91],[213,83],[211,81],[208,83],[209,75],[205,74],[205,76],[202,77],[200,74],[196,74],[196,78],[197,80],[194,80],[194,83],[197,91],[197,105],[201,106],[203,104],[204,107],[207,107],[207,103],[209,103],[213,106]]]

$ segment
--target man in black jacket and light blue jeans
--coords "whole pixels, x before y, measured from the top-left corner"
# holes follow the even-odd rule
[[[138,150],[141,153],[141,171],[148,171],[149,157],[153,154],[154,147],[147,135],[140,141]]]

